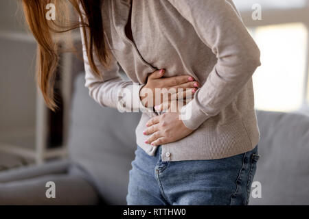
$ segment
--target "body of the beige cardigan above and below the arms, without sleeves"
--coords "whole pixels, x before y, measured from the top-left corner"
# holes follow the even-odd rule
[[[166,77],[192,75],[203,85],[217,58],[198,37],[194,27],[167,0],[133,0],[130,36],[128,32],[126,34],[130,7],[130,0],[105,0],[102,5],[107,42],[126,75],[133,82],[144,84],[149,73],[164,68]],[[207,146],[197,145],[199,155],[190,156],[190,153],[197,153],[190,151],[175,159],[216,159],[253,149],[258,142],[259,131],[252,95],[250,79],[240,94],[218,115],[206,120],[187,138],[163,145],[163,151],[167,148],[169,151],[173,148],[182,151],[187,146],[194,150],[193,144],[208,144],[208,147],[218,146],[219,149],[209,148],[207,151]],[[156,148],[146,145],[146,136],[142,134],[148,119],[147,114],[141,117],[136,130],[137,143],[153,155]],[[222,135],[225,135],[223,140]],[[234,146],[236,151],[231,150]],[[222,155],[220,151],[231,153]]]

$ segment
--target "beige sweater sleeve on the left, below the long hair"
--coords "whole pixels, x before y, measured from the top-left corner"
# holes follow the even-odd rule
[[[81,35],[86,79],[85,86],[89,89],[89,95],[101,106],[117,108],[119,112],[139,112],[139,110],[142,112],[152,112],[152,109],[144,107],[139,98],[139,90],[143,85],[133,83],[132,81],[125,81],[120,77],[119,66],[112,53],[108,68],[102,66],[98,61],[98,57],[93,54],[95,65],[102,77],[93,73],[89,65],[84,35]]]

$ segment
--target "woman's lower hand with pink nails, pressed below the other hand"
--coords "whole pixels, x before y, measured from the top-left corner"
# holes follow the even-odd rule
[[[169,112],[151,118],[143,133],[150,136],[145,143],[153,146],[176,142],[189,136],[194,130],[188,129],[179,118],[179,112]]]

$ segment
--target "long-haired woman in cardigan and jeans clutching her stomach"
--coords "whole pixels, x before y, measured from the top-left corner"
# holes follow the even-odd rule
[[[82,29],[89,94],[102,106],[144,112],[128,205],[246,205],[259,157],[251,76],[260,51],[233,1],[69,2],[80,16],[71,28]],[[39,44],[38,84],[53,108],[52,33],[65,30],[42,16],[46,3],[23,6]],[[131,81],[119,77],[117,62]],[[176,91],[155,101],[155,88]],[[175,102],[182,107],[172,112]]]

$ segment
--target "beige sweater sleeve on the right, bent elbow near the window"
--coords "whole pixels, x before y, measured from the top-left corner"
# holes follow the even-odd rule
[[[194,27],[217,63],[194,99],[181,109],[183,123],[197,129],[231,103],[255,69],[260,50],[229,0],[168,0]]]

